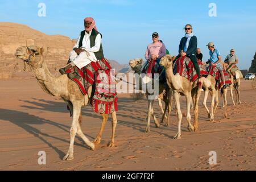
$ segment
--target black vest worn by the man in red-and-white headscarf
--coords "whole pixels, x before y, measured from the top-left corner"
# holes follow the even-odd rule
[[[100,32],[97,32],[93,28],[92,34],[90,34],[90,47],[93,47],[95,45],[95,39],[98,34],[100,34]],[[81,31],[81,33],[80,33],[79,48],[82,47],[82,39],[84,39],[84,35],[85,35],[85,30]],[[102,38],[102,35],[101,35],[101,38]],[[101,44],[100,50],[98,52],[94,52],[94,54],[95,54],[97,60],[101,60],[104,58],[102,44]]]

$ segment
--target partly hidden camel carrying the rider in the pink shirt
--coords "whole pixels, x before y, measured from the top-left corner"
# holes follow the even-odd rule
[[[131,69],[133,69],[134,72],[137,73],[138,75],[141,75],[142,62],[143,62],[143,59],[132,59],[129,61],[129,65],[130,65]],[[148,83],[148,84],[152,84],[152,82]],[[138,88],[140,90],[142,90],[142,82],[141,81],[139,81]],[[164,92],[166,92],[166,93],[164,93]],[[158,119],[155,117],[155,114],[154,114],[154,109],[153,109],[154,100],[148,99],[149,96],[150,96],[150,94],[146,93],[146,98],[148,100],[148,113],[147,113],[147,118],[146,118],[146,122],[147,122],[146,133],[150,132],[151,116],[154,118],[155,126],[156,127],[160,126]],[[171,97],[171,89],[166,90],[166,88],[164,87],[164,84],[162,82],[159,82],[158,103],[159,103],[160,109],[162,110],[162,113],[163,113],[161,123],[164,122],[164,120],[166,120],[166,126],[169,125],[169,122],[168,122],[169,114],[167,114],[167,117],[166,117],[166,112],[167,112],[167,110],[168,110],[168,113],[171,111],[171,103],[169,102],[168,97]],[[164,110],[162,107],[161,100],[163,100],[165,103]],[[170,101],[171,101],[171,99],[170,99]]]

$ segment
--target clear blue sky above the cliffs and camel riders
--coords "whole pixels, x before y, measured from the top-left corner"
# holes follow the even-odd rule
[[[46,17],[39,17],[39,3],[46,5]],[[210,17],[209,3],[216,3],[217,16]],[[105,57],[127,63],[144,57],[152,32],[158,32],[171,55],[177,55],[183,27],[190,23],[198,47],[209,57],[205,45],[214,42],[224,59],[236,49],[241,69],[249,69],[256,51],[256,1],[197,0],[0,0],[0,22],[15,22],[49,35],[76,39],[83,30],[83,19],[92,16],[103,34]]]

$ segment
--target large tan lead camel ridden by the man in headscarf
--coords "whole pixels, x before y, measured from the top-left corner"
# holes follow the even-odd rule
[[[89,97],[92,96],[92,86],[88,89],[88,96],[84,96],[79,87],[75,82],[70,80],[67,75],[60,75],[58,77],[53,77],[47,68],[47,64],[43,58],[43,48],[37,46],[22,46],[16,49],[15,56],[18,59],[22,59],[31,68],[32,73],[34,73],[38,84],[43,89],[44,92],[50,94],[51,96],[61,97],[69,106],[72,113],[72,125],[70,129],[70,144],[67,154],[64,156],[63,160],[72,160],[73,156],[73,145],[76,134],[78,134],[82,140],[90,147],[91,150],[95,149],[96,144],[101,142],[101,135],[105,127],[105,123],[108,120],[109,114],[102,115],[102,124],[100,132],[98,133],[96,139],[91,142],[82,133],[81,126],[79,123],[79,115],[81,114],[81,106],[86,106],[89,104]],[[114,135],[115,127],[117,125],[117,117],[115,111],[112,115],[112,137],[108,144],[109,147],[114,146]]]

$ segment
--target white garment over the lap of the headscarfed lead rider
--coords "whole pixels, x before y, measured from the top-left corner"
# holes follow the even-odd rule
[[[75,51],[69,53],[69,59],[79,68],[83,68],[90,62],[96,62],[96,56],[93,52],[81,52],[79,55]]]

